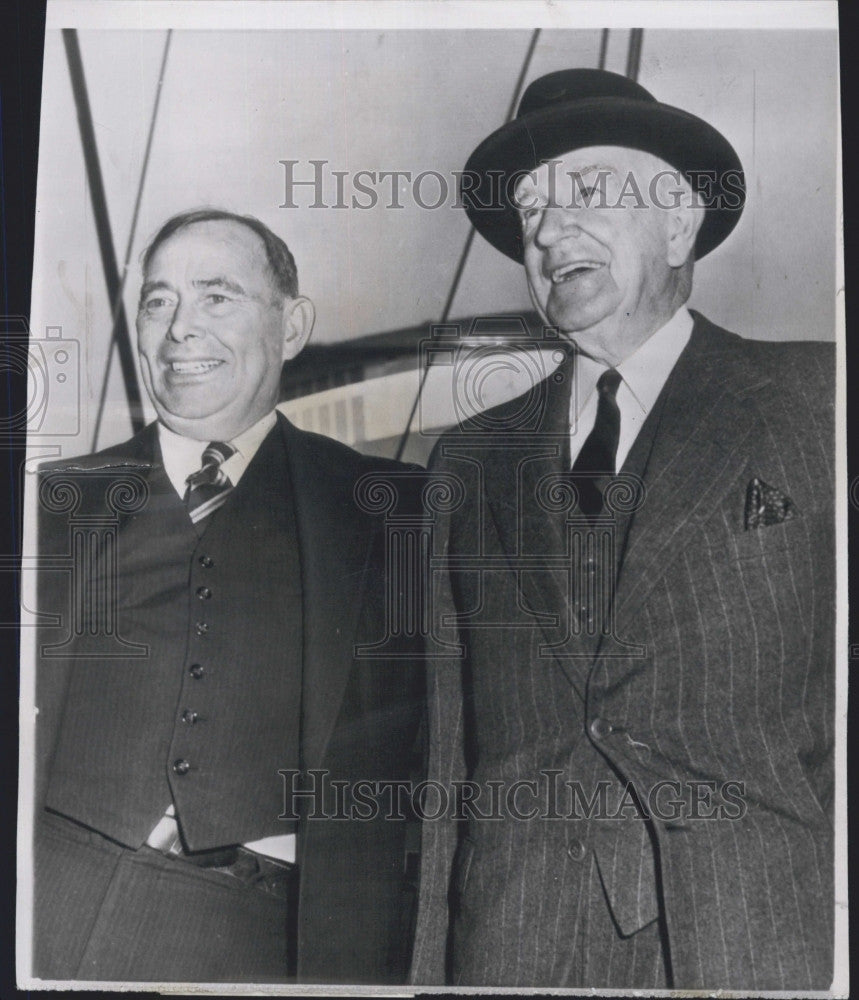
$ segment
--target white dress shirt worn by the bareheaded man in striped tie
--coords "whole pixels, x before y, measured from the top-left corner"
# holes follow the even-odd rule
[[[221,463],[221,469],[233,486],[238,485],[263,439],[276,423],[277,416],[272,410],[262,420],[258,420],[253,427],[249,427],[231,441],[226,442],[231,444],[236,451],[225,462]],[[161,445],[164,471],[179,496],[184,497],[185,480],[191,473],[202,467],[203,452],[209,442],[183,437],[160,422],[158,423],[158,441]],[[164,816],[161,817],[149,835],[147,843],[150,846],[166,850],[170,844],[178,845],[179,830],[176,826],[175,816],[176,809],[171,802],[165,810]],[[270,858],[295,862],[296,836],[294,833],[282,834],[278,837],[263,837],[261,840],[250,841],[244,846]]]

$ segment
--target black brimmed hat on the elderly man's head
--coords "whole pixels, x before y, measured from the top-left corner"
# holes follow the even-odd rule
[[[516,180],[541,163],[585,146],[625,146],[652,153],[679,170],[706,205],[695,242],[703,257],[731,232],[745,203],[740,159],[707,122],[659,101],[618,73],[566,69],[534,80],[516,118],[468,159],[462,201],[475,228],[522,262],[519,217],[510,203]]]

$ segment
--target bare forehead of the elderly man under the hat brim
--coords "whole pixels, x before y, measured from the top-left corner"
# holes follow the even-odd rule
[[[620,186],[631,178],[637,188],[647,190],[654,179],[662,177],[684,180],[675,167],[652,153],[627,146],[583,146],[524,174],[514,188],[513,200],[517,207],[533,205],[535,198],[554,201],[602,178]]]

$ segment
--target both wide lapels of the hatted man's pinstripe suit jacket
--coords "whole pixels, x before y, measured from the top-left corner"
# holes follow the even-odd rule
[[[755,426],[749,396],[768,381],[761,372],[749,369],[732,349],[739,338],[696,313],[693,316],[689,344],[652,413],[658,426],[649,429],[650,440],[636,442],[625,466],[641,461],[646,492],[641,508],[618,525],[619,538],[625,540],[614,597],[615,628],[621,638],[623,623],[631,620],[698,526],[736,482]],[[548,380],[544,386],[550,400],[560,396],[551,391]],[[543,475],[558,471],[566,421],[562,405],[547,405],[539,433],[521,444],[513,438],[503,449],[486,453],[486,495],[501,544],[512,558],[565,551],[564,515],[547,516],[536,502],[534,488]],[[563,618],[569,602],[565,570],[522,572],[519,586],[532,610],[561,609]],[[550,644],[557,643],[557,626],[544,620],[541,625]],[[581,693],[578,671],[569,670],[568,658],[557,659]]]

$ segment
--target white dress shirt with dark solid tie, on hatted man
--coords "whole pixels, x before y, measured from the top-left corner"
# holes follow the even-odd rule
[[[620,410],[620,438],[615,465],[617,471],[623,468],[626,456],[648,413],[653,409],[683,348],[689,343],[692,326],[692,316],[682,306],[665,326],[617,365],[615,370],[621,376],[616,396]],[[599,401],[597,380],[608,367],[586,354],[576,355],[573,394],[570,399],[570,465],[576,461],[582,445],[593,430]]]

